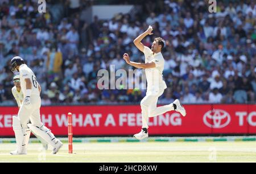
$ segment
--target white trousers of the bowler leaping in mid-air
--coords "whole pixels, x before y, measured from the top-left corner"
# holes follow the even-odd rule
[[[164,89],[160,90],[157,95],[146,95],[141,101],[142,111],[142,128],[148,128],[148,117],[156,117],[168,111],[174,110],[174,106],[170,105],[156,107],[158,97],[162,96]]]

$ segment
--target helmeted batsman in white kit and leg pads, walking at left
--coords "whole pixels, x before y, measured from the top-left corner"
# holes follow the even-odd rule
[[[26,129],[29,127],[32,132],[40,136],[48,144],[53,147],[52,154],[56,154],[63,143],[55,138],[51,130],[43,125],[40,118],[41,98],[39,88],[40,85],[36,80],[34,72],[24,63],[24,60],[19,57],[11,59],[11,71],[19,74],[20,87],[24,95],[20,105],[18,117],[13,117],[13,130],[15,133],[17,149],[10,152],[12,155],[26,155]],[[28,121],[31,124],[28,124]]]

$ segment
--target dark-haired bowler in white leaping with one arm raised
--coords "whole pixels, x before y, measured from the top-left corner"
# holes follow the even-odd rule
[[[179,100],[175,100],[170,105],[157,107],[158,97],[162,96],[164,89],[167,88],[166,82],[163,81],[163,69],[164,69],[164,58],[161,53],[164,47],[164,40],[162,38],[155,38],[152,43],[151,49],[144,46],[141,41],[147,35],[152,35],[153,28],[151,26],[139,35],[135,40],[134,44],[136,47],[144,53],[145,63],[135,63],[130,61],[130,57],[127,53],[123,55],[126,63],[136,67],[143,68],[146,71],[147,78],[147,93],[141,101],[142,110],[142,130],[134,137],[141,140],[148,137],[148,117],[156,117],[164,114],[167,111],[175,110],[181,113],[183,117],[186,115],[184,107],[180,104]]]

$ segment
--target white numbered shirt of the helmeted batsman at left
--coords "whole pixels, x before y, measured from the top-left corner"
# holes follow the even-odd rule
[[[34,72],[32,72],[32,70],[27,67],[26,64],[22,64],[19,66],[19,78],[20,78],[20,86],[22,89],[22,93],[24,94],[24,97],[27,97],[25,78],[30,78],[32,82],[31,95],[40,96],[39,89],[38,89],[38,81],[36,80],[36,76]]]

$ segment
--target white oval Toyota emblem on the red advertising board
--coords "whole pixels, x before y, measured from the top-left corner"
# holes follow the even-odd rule
[[[204,123],[210,128],[223,128],[229,125],[230,115],[225,110],[214,109],[204,114]]]

